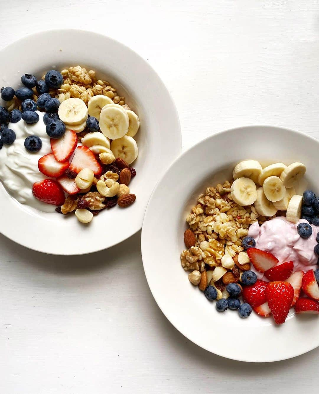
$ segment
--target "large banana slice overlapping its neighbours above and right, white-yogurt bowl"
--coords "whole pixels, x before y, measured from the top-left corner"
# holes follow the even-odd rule
[[[111,139],[122,138],[129,130],[129,115],[119,104],[105,105],[100,114],[101,132]]]

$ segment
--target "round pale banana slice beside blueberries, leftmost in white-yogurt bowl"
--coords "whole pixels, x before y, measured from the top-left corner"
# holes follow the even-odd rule
[[[81,99],[66,99],[61,102],[58,110],[61,121],[67,125],[79,125],[87,120],[89,111]]]

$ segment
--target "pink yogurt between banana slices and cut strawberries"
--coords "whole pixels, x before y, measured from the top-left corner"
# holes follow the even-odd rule
[[[258,222],[253,223],[248,230],[248,235],[256,241],[256,248],[271,252],[279,262],[293,261],[293,271],[308,271],[309,266],[317,264],[318,256],[313,249],[317,245],[316,235],[319,227],[311,225],[312,235],[309,238],[301,238],[297,232],[299,223],[308,223],[300,219],[296,224],[289,222],[286,217],[275,217],[266,221],[261,226]],[[263,274],[256,272],[259,279]],[[267,279],[266,279],[267,280]]]

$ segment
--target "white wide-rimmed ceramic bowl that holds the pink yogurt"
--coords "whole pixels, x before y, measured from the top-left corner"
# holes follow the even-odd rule
[[[262,164],[300,161],[305,180],[318,190],[319,142],[305,134],[271,126],[227,130],[201,141],[180,156],[159,181],[142,227],[142,258],[149,287],[160,309],[188,339],[230,359],[267,362],[288,359],[319,346],[319,318],[295,316],[286,323],[255,313],[217,312],[181,267],[185,219],[205,187],[231,178],[234,165],[254,158]],[[306,185],[304,185],[306,186]]]

